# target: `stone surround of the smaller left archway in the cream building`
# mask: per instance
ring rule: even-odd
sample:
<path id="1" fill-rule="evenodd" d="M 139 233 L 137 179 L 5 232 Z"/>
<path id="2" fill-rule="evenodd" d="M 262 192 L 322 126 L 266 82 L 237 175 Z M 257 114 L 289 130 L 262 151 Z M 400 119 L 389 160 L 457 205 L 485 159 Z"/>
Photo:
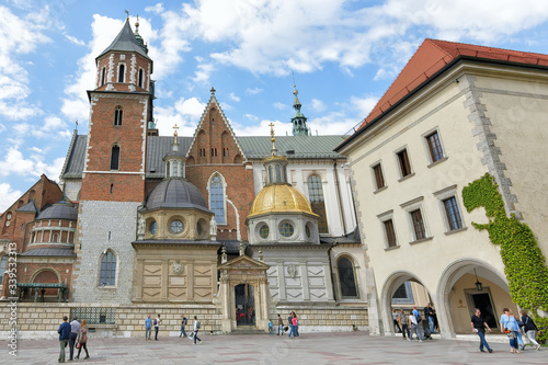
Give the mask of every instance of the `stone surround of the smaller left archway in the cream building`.
<path id="1" fill-rule="evenodd" d="M 419 283 L 426 289 L 429 295 L 431 293 L 427 286 L 423 284 L 424 282 L 418 275 L 411 272 L 397 271 L 388 275 L 385 284 L 383 285 L 383 292 L 380 293 L 380 306 L 379 306 L 380 320 L 383 322 L 383 328 L 386 335 L 395 334 L 393 319 L 391 313 L 392 296 L 398 289 L 398 287 L 400 287 L 400 285 L 406 283 L 407 281 Z M 434 300 L 434 307 L 436 307 L 435 300 Z"/>

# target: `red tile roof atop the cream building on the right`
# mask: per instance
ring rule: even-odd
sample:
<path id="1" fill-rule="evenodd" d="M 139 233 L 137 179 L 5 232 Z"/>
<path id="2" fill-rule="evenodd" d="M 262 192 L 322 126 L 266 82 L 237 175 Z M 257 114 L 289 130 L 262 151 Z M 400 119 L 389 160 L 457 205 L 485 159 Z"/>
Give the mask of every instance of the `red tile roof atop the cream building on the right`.
<path id="1" fill-rule="evenodd" d="M 459 56 L 548 66 L 548 55 L 426 38 L 359 128 L 386 112 Z"/>

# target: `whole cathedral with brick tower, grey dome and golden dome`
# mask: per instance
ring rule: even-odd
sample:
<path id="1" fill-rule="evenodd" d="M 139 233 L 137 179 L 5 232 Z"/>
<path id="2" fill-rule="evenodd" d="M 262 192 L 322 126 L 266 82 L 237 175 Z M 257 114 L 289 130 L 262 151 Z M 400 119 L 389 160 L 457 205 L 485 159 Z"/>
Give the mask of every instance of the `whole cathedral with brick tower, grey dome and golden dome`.
<path id="1" fill-rule="evenodd" d="M 181 313 L 225 333 L 289 311 L 304 331 L 366 328 L 343 137 L 312 135 L 296 87 L 290 136 L 237 136 L 213 88 L 194 135 L 159 136 L 138 23 L 95 61 L 88 133 L 75 130 L 60 183 L 44 176 L 9 208 L 30 223 L 4 229 L 22 303 L 61 301 L 112 335 L 139 335 L 150 312 L 173 332 Z"/>

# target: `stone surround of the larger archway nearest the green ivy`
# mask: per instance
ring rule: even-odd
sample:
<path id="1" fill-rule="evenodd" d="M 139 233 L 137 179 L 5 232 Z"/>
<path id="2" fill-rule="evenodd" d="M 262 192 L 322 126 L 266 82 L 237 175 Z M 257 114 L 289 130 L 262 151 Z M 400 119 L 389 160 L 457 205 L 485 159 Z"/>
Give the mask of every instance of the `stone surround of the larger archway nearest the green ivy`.
<path id="1" fill-rule="evenodd" d="M 473 270 L 476 269 L 476 272 Z M 452 316 L 450 308 L 450 294 L 454 285 L 465 275 L 465 274 L 477 274 L 478 277 L 483 278 L 483 281 L 489 281 L 500 288 L 502 288 L 509 296 L 510 289 L 507 286 L 506 277 L 503 273 L 496 270 L 491 264 L 475 259 L 475 258 L 463 258 L 450 263 L 439 276 L 436 288 L 436 311 L 437 320 L 439 322 L 439 328 L 442 330 L 442 337 L 444 338 L 455 338 L 455 323 L 454 316 Z"/>

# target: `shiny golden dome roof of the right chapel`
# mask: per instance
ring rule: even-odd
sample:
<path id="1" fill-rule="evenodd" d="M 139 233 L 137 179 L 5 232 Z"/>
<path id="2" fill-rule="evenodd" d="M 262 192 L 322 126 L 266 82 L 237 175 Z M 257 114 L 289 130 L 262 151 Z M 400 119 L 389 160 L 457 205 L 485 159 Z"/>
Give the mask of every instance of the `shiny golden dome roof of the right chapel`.
<path id="1" fill-rule="evenodd" d="M 317 216 L 305 195 L 288 184 L 263 187 L 253 201 L 248 218 L 270 213 L 308 213 Z"/>

